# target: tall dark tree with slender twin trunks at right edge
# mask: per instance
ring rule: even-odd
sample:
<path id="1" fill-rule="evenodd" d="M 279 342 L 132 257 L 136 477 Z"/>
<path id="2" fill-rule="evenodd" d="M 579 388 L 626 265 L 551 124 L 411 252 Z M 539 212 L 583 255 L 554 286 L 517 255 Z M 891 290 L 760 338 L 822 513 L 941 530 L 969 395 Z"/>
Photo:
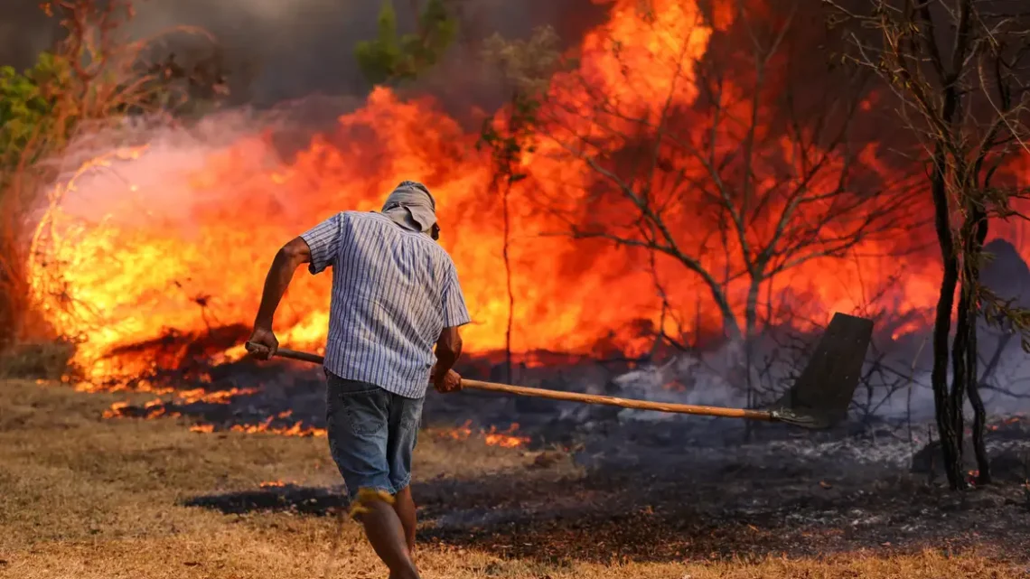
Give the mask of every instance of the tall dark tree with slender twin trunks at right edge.
<path id="1" fill-rule="evenodd" d="M 977 378 L 976 320 L 1025 334 L 1030 312 L 980 283 L 991 219 L 1021 217 L 1025 197 L 1009 164 L 1027 152 L 1027 43 L 1030 13 L 1004 2 L 876 0 L 861 8 L 824 0 L 832 24 L 849 25 L 845 60 L 874 71 L 894 99 L 928 165 L 934 228 L 943 266 L 933 328 L 931 381 L 948 480 L 967 486 L 962 469 L 963 408 L 973 408 L 976 484 L 991 482 L 984 442 L 986 411 Z M 956 309 L 955 293 L 959 300 Z M 949 338 L 952 316 L 955 337 Z M 949 387 L 949 362 L 951 384 Z"/>

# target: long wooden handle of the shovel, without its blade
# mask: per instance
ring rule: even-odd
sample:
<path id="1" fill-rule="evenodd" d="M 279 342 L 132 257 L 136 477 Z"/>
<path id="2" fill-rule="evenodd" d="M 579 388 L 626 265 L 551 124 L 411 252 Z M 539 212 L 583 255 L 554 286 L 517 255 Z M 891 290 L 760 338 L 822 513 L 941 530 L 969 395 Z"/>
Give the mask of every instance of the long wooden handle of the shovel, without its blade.
<path id="1" fill-rule="evenodd" d="M 250 344 L 247 344 L 250 346 Z M 256 346 L 261 347 L 261 346 Z M 247 348 L 251 350 L 250 347 Z M 322 364 L 324 359 L 320 355 L 279 348 L 275 355 Z M 695 406 L 692 404 L 671 404 L 664 402 L 648 402 L 644 400 L 630 400 L 626 398 L 615 398 L 612 396 L 598 396 L 592 394 L 566 393 L 560 390 L 549 390 L 545 388 L 530 388 L 526 386 L 513 386 L 511 384 L 499 384 L 496 382 L 483 382 L 480 380 L 469 380 L 461 378 L 462 388 L 473 388 L 477 390 L 487 390 L 494 393 L 513 394 L 517 396 L 528 396 L 534 398 L 547 398 L 550 400 L 568 400 L 572 402 L 585 402 L 587 404 L 604 404 L 607 406 L 619 406 L 621 408 L 634 408 L 638 410 L 657 410 L 658 412 L 674 412 L 678 414 L 696 414 L 700 416 L 722 416 L 725 418 L 745 418 L 749 420 L 775 420 L 776 417 L 767 410 L 746 410 L 743 408 L 721 408 L 718 406 Z"/>

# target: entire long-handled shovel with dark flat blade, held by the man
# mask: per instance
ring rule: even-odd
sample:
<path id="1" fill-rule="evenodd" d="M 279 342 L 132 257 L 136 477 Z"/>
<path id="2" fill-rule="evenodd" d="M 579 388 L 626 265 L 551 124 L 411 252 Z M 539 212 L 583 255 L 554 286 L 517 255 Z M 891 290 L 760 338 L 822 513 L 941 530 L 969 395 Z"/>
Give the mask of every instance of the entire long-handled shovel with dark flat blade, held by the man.
<path id="1" fill-rule="evenodd" d="M 848 406 L 858 386 L 865 351 L 872 339 L 872 320 L 864 317 L 834 313 L 829 327 L 823 333 L 808 366 L 801 371 L 794 385 L 772 406 L 765 410 L 745 408 L 722 408 L 717 406 L 696 406 L 693 404 L 671 404 L 566 393 L 526 386 L 513 386 L 495 382 L 483 382 L 461 378 L 462 388 L 513 394 L 551 400 L 569 400 L 586 404 L 605 404 L 639 410 L 655 410 L 698 416 L 721 416 L 744 418 L 766 422 L 784 422 L 806 429 L 828 429 L 848 415 Z M 247 343 L 248 350 L 262 348 Z M 302 362 L 322 364 L 320 355 L 279 348 L 275 355 Z"/>

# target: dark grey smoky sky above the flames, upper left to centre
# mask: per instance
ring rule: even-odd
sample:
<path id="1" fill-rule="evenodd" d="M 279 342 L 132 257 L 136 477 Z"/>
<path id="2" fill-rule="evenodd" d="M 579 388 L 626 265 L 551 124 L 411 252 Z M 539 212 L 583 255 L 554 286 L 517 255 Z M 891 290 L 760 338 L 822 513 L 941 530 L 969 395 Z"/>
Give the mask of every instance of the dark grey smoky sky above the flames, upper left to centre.
<path id="1" fill-rule="evenodd" d="M 58 37 L 54 20 L 36 2 L 5 8 L 0 23 L 0 65 L 30 66 Z M 421 3 L 419 3 L 421 4 Z M 311 94 L 364 95 L 370 87 L 354 59 L 355 44 L 377 33 L 380 1 L 370 0 L 149 0 L 137 3 L 128 27 L 131 38 L 149 38 L 176 27 L 210 33 L 235 90 L 235 104 L 269 106 Z M 569 43 L 606 13 L 590 0 L 457 0 L 451 3 L 461 27 L 445 61 L 415 89 L 440 97 L 455 109 L 492 108 L 502 95 L 497 78 L 479 63 L 480 41 L 493 33 L 524 37 L 551 25 Z M 409 2 L 394 2 L 402 32 L 414 29 Z M 176 35 L 159 54 L 186 57 L 210 50 L 196 37 Z"/>

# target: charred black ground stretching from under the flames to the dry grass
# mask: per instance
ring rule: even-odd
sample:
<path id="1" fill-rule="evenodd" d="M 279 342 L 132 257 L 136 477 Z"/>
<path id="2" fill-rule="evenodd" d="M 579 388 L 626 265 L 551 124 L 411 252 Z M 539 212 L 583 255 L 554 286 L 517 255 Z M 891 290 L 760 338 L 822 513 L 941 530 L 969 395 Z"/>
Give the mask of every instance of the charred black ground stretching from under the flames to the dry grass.
<path id="1" fill-rule="evenodd" d="M 166 411 L 215 430 L 323 424 L 322 380 L 310 368 L 282 363 L 258 370 L 240 363 L 212 377 L 205 386 L 212 391 L 255 384 L 258 391 L 229 404 L 166 404 Z M 123 414 L 154 408 L 129 406 Z M 277 418 L 284 409 L 289 416 Z M 525 453 L 521 469 L 467 477 L 455 467 L 455 473 L 416 480 L 420 541 L 551 565 L 925 548 L 986 548 L 1005 558 L 1030 558 L 1030 421 L 999 421 L 989 434 L 997 484 L 952 492 L 935 468 L 936 453 L 920 452 L 926 436 L 909 441 L 907 424 L 849 423 L 818 433 L 755 424 L 749 434 L 743 422 L 728 419 L 656 417 L 472 391 L 431 394 L 425 427 L 471 420 L 474 429 L 506 430 L 517 418 L 516 432 L 529 442 L 511 450 Z M 912 430 L 927 432 L 925 424 Z M 560 476 L 543 468 L 554 462 L 577 468 Z M 341 491 L 285 485 L 199 496 L 185 504 L 227 513 L 323 516 L 345 506 Z"/>

